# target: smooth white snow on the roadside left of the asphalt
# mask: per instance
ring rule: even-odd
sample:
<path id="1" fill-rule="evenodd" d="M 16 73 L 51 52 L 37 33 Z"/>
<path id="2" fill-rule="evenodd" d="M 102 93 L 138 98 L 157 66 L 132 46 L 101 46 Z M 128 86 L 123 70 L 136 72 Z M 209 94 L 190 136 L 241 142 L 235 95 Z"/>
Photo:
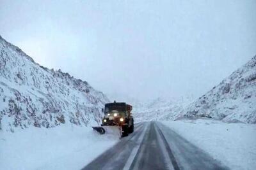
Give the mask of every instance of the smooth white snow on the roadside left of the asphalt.
<path id="1" fill-rule="evenodd" d="M 72 124 L 0 131 L 0 169 L 81 169 L 117 141 Z"/>

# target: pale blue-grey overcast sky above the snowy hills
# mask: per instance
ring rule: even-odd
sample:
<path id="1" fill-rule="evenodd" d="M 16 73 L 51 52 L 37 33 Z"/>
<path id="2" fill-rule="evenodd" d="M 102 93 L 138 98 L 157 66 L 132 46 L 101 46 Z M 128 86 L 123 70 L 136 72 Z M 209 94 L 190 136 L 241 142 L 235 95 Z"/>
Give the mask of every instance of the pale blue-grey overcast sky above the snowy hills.
<path id="1" fill-rule="evenodd" d="M 199 97 L 256 54 L 256 1 L 3 1 L 0 34 L 128 97 Z"/>

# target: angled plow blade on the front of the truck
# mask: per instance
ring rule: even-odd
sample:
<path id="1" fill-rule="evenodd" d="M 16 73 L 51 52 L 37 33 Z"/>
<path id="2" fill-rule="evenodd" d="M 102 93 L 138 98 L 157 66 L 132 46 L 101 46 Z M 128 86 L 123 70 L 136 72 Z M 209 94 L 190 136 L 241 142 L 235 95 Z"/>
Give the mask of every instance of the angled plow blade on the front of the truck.
<path id="1" fill-rule="evenodd" d="M 122 136 L 122 129 L 119 126 L 104 125 L 100 127 L 92 127 L 93 131 L 97 131 L 99 134 L 112 134 L 115 136 Z"/>

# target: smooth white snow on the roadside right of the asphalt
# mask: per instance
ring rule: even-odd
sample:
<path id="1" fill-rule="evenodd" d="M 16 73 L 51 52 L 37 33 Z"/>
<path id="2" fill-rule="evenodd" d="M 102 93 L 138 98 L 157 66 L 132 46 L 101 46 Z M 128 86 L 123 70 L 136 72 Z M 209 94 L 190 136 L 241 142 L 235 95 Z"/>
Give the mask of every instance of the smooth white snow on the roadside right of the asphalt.
<path id="1" fill-rule="evenodd" d="M 230 169 L 256 167 L 256 125 L 200 119 L 162 123 Z"/>

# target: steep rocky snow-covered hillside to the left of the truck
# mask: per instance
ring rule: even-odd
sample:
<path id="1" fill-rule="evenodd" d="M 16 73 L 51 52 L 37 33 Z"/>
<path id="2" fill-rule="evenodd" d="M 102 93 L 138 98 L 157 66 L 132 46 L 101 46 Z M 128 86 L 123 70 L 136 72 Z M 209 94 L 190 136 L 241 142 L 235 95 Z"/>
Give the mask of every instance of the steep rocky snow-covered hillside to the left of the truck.
<path id="1" fill-rule="evenodd" d="M 86 81 L 47 69 L 0 36 L 0 129 L 100 120 L 108 98 Z"/>

